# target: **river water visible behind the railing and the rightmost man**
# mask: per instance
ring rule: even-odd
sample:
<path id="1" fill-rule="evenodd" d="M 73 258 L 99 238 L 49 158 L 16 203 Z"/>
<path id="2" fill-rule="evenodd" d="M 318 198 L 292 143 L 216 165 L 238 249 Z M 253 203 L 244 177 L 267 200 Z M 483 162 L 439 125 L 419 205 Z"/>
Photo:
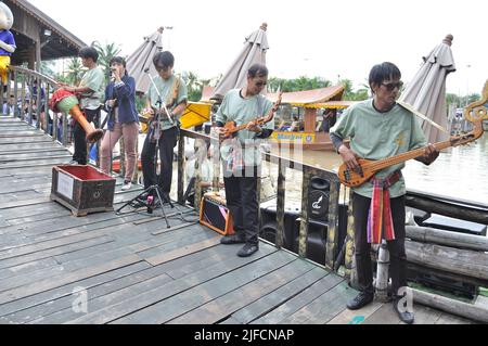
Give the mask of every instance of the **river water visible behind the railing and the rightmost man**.
<path id="1" fill-rule="evenodd" d="M 272 152 L 278 154 L 274 149 Z M 305 151 L 304 153 L 282 153 L 282 155 L 334 171 L 337 171 L 342 164 L 341 156 L 334 152 Z M 274 168 L 271 168 L 268 174 L 277 177 Z M 485 132 L 484 137 L 468 146 L 453 148 L 442 152 L 431 166 L 409 161 L 403 175 L 408 189 L 488 205 L 488 133 Z M 300 172 L 290 170 L 287 174 L 286 194 L 287 204 L 288 202 L 300 203 Z"/>

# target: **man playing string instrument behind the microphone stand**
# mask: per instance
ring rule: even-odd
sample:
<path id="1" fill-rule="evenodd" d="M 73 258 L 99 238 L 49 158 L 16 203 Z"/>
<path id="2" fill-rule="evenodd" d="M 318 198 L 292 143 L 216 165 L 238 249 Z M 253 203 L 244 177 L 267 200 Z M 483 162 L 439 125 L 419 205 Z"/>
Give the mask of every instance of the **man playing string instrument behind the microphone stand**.
<path id="1" fill-rule="evenodd" d="M 141 153 L 144 189 L 159 187 L 165 198 L 169 198 L 172 179 L 172 151 L 178 142 L 179 117 L 187 108 L 187 86 L 175 76 L 175 56 L 170 52 L 158 52 L 153 59 L 158 76 L 147 91 L 144 114 L 151 115 L 150 130 Z M 160 94 L 162 104 L 158 103 Z M 163 107 L 163 104 L 166 107 Z M 166 113 L 166 110 L 168 114 Z M 160 113 L 158 113 L 160 112 Z M 157 124 L 157 120 L 159 121 Z M 156 142 L 159 146 L 160 175 L 156 177 Z"/>

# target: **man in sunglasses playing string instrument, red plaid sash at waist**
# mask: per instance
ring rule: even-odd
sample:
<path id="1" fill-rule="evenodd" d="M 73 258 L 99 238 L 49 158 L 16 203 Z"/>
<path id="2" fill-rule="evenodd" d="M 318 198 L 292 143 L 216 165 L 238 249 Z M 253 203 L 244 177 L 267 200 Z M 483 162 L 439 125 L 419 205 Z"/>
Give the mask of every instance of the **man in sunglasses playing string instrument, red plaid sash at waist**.
<path id="1" fill-rule="evenodd" d="M 331 129 L 331 139 L 347 167 L 360 171 L 358 157 L 378 161 L 408 151 L 427 148 L 424 157 L 432 164 L 439 152 L 427 146 L 415 116 L 399 106 L 396 100 L 402 86 L 401 73 L 391 63 L 372 68 L 370 87 L 373 100 L 349 107 Z M 343 140 L 350 139 L 350 149 Z M 374 298 L 371 244 L 387 241 L 390 253 L 390 277 L 394 308 L 406 323 L 413 323 L 413 312 L 400 308 L 400 295 L 407 286 L 407 255 L 404 248 L 406 184 L 401 176 L 404 164 L 378 171 L 372 180 L 354 189 L 356 268 L 359 295 L 347 307 L 357 310 Z"/>

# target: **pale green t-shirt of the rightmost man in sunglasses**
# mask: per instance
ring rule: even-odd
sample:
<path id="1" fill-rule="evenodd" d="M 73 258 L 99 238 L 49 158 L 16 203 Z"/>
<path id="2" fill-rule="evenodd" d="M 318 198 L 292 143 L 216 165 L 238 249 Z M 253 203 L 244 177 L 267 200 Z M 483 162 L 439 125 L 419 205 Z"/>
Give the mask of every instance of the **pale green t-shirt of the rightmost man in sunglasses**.
<path id="1" fill-rule="evenodd" d="M 383 159 L 427 145 L 425 136 L 415 116 L 395 105 L 387 113 L 380 113 L 373 106 L 373 100 L 358 103 L 344 112 L 337 124 L 331 129 L 342 139 L 350 139 L 350 149 L 365 159 Z M 385 168 L 376 178 L 387 178 L 401 170 L 404 163 Z M 354 191 L 364 197 L 372 197 L 373 184 L 369 181 Z M 390 197 L 407 193 L 404 179 L 401 178 L 389 189 Z"/>

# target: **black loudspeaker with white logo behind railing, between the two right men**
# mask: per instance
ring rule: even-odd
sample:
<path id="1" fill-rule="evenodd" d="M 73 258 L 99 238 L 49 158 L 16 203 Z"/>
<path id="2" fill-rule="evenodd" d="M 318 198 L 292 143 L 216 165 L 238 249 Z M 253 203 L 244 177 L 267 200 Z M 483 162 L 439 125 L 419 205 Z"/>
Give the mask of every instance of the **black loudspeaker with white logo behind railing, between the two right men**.
<path id="1" fill-rule="evenodd" d="M 312 177 L 310 181 L 310 196 L 308 215 L 310 219 L 326 222 L 329 218 L 329 200 L 331 183 L 322 178 Z"/>

